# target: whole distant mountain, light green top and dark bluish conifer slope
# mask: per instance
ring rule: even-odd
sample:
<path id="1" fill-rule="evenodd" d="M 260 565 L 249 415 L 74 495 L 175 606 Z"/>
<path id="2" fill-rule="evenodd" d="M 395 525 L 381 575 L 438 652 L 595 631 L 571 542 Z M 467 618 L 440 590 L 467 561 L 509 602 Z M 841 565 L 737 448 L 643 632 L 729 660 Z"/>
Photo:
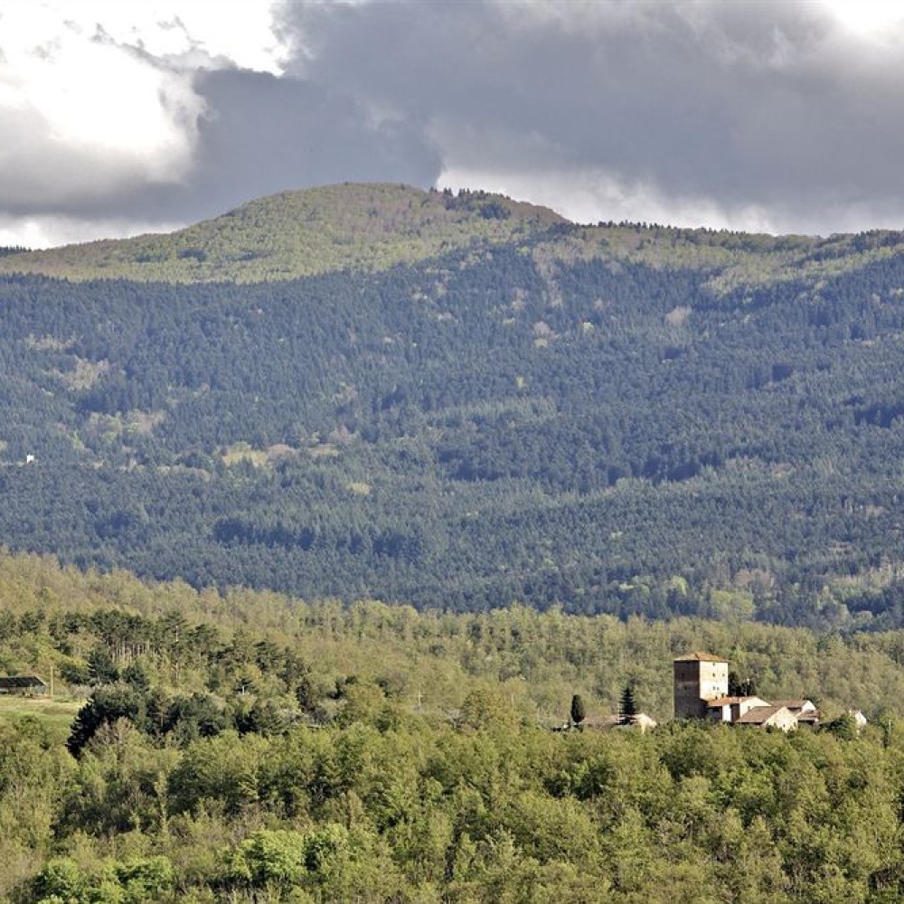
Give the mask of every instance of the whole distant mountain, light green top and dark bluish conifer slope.
<path id="1" fill-rule="evenodd" d="M 11 250 L 0 542 L 307 598 L 899 626 L 902 250 L 352 185 Z"/>

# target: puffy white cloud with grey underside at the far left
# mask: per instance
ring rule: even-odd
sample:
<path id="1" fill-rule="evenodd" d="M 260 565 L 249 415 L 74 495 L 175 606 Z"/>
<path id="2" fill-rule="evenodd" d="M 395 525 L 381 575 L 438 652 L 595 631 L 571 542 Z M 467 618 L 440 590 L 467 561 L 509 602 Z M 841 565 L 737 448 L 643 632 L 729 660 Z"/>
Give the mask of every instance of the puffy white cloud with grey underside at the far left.
<path id="1" fill-rule="evenodd" d="M 10 213 L 103 204 L 181 178 L 202 102 L 180 73 L 24 5 L 0 18 L 0 194 Z"/>

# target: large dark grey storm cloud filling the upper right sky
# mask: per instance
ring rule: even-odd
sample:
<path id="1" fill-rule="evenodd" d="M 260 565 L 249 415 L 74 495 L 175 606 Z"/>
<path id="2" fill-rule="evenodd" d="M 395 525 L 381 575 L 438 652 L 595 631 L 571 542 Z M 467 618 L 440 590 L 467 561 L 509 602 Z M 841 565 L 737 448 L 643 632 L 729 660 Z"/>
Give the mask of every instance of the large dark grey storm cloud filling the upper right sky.
<path id="1" fill-rule="evenodd" d="M 598 168 L 814 221 L 904 210 L 904 55 L 815 5 L 287 5 L 294 71 L 422 124 L 444 162 Z M 826 223 L 825 225 L 830 225 Z"/>

